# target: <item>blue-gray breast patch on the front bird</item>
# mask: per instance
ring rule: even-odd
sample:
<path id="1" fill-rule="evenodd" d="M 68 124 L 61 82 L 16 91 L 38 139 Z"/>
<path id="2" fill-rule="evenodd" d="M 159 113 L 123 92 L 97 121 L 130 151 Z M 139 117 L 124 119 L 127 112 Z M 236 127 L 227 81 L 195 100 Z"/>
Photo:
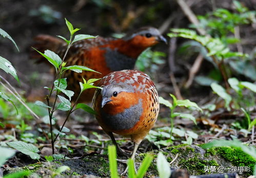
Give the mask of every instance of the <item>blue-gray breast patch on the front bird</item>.
<path id="1" fill-rule="evenodd" d="M 109 115 L 101 110 L 101 115 L 105 124 L 112 130 L 124 130 L 132 128 L 137 122 L 139 122 L 142 115 L 142 100 L 139 103 L 125 109 L 123 113 L 116 115 Z"/>

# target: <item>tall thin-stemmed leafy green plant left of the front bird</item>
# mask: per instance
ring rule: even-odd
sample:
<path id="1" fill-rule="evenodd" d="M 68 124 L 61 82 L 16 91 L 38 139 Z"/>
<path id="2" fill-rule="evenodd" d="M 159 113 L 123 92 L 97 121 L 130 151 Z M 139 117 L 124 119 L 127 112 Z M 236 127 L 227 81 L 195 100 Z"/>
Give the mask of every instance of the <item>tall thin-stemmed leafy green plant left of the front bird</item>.
<path id="1" fill-rule="evenodd" d="M 36 105 L 40 105 L 42 107 L 45 107 L 48 109 L 48 116 L 49 116 L 49 122 L 50 122 L 50 133 L 51 133 L 51 145 L 52 145 L 52 153 L 54 154 L 54 142 L 56 141 L 56 139 L 58 138 L 58 136 L 65 136 L 66 133 L 65 132 L 69 132 L 69 129 L 64 127 L 65 123 L 67 122 L 70 114 L 78 109 L 78 108 L 82 108 L 84 109 L 86 112 L 88 113 L 94 113 L 93 109 L 90 108 L 89 106 L 87 106 L 86 104 L 77 104 L 78 99 L 80 98 L 82 92 L 84 92 L 85 90 L 87 90 L 88 88 L 100 88 L 97 86 L 93 86 L 93 82 L 95 82 L 96 80 L 99 79 L 89 79 L 88 81 L 86 81 L 84 79 L 84 82 L 80 82 L 80 86 L 81 86 L 81 92 L 78 95 L 78 97 L 74 100 L 74 103 L 71 105 L 71 97 L 74 95 L 73 91 L 70 90 L 66 90 L 67 88 L 67 81 L 66 78 L 62 78 L 65 74 L 66 71 L 71 70 L 73 72 L 76 73 L 82 73 L 82 71 L 90 71 L 90 72 L 96 72 L 94 70 L 91 70 L 89 68 L 87 68 L 86 66 L 81 66 L 81 65 L 71 65 L 71 66 L 66 66 L 66 62 L 65 62 L 65 57 L 71 47 L 71 44 L 73 44 L 74 42 L 78 41 L 78 40 L 82 40 L 82 39 L 88 39 L 88 38 L 94 38 L 94 36 L 91 35 L 83 35 L 83 34 L 78 34 L 78 35 L 74 35 L 75 32 L 77 32 L 80 29 L 74 29 L 72 24 L 67 20 L 66 20 L 66 25 L 69 29 L 70 32 L 70 38 L 69 40 L 62 37 L 62 36 L 58 36 L 60 38 L 62 38 L 63 40 L 66 41 L 67 43 L 67 50 L 65 52 L 64 57 L 61 59 L 60 56 L 58 56 L 57 54 L 55 54 L 54 52 L 50 51 L 50 50 L 46 50 L 44 53 L 41 53 L 40 51 L 36 51 L 38 53 L 40 53 L 42 56 L 44 56 L 55 68 L 56 71 L 56 75 L 55 75 L 55 81 L 52 84 L 51 87 L 45 87 L 49 90 L 49 95 L 46 96 L 46 100 L 47 100 L 47 104 L 45 104 L 42 101 L 36 101 L 35 104 Z M 50 104 L 50 98 L 53 96 L 53 94 L 55 93 L 54 96 L 54 103 L 51 105 Z M 68 99 L 66 99 L 63 96 L 60 96 L 60 94 L 64 94 L 68 97 Z M 60 102 L 57 102 L 57 99 Z M 77 105 L 76 105 L 77 104 Z M 76 107 L 75 107 L 76 106 Z M 59 109 L 59 110 L 65 110 L 68 111 L 67 117 L 63 123 L 63 125 L 61 126 L 60 130 L 53 130 L 53 121 L 56 120 L 53 117 L 54 112 Z M 55 135 L 55 136 L 54 136 Z"/>

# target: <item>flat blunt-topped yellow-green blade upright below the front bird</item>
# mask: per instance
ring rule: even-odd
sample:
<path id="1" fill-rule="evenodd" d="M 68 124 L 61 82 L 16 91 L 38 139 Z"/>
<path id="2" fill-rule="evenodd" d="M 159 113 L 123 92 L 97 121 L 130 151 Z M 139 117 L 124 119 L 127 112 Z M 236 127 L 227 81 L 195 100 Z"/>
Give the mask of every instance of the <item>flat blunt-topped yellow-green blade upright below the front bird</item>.
<path id="1" fill-rule="evenodd" d="M 116 162 L 116 148 L 114 145 L 108 146 L 108 160 L 111 178 L 118 178 L 117 162 Z"/>

